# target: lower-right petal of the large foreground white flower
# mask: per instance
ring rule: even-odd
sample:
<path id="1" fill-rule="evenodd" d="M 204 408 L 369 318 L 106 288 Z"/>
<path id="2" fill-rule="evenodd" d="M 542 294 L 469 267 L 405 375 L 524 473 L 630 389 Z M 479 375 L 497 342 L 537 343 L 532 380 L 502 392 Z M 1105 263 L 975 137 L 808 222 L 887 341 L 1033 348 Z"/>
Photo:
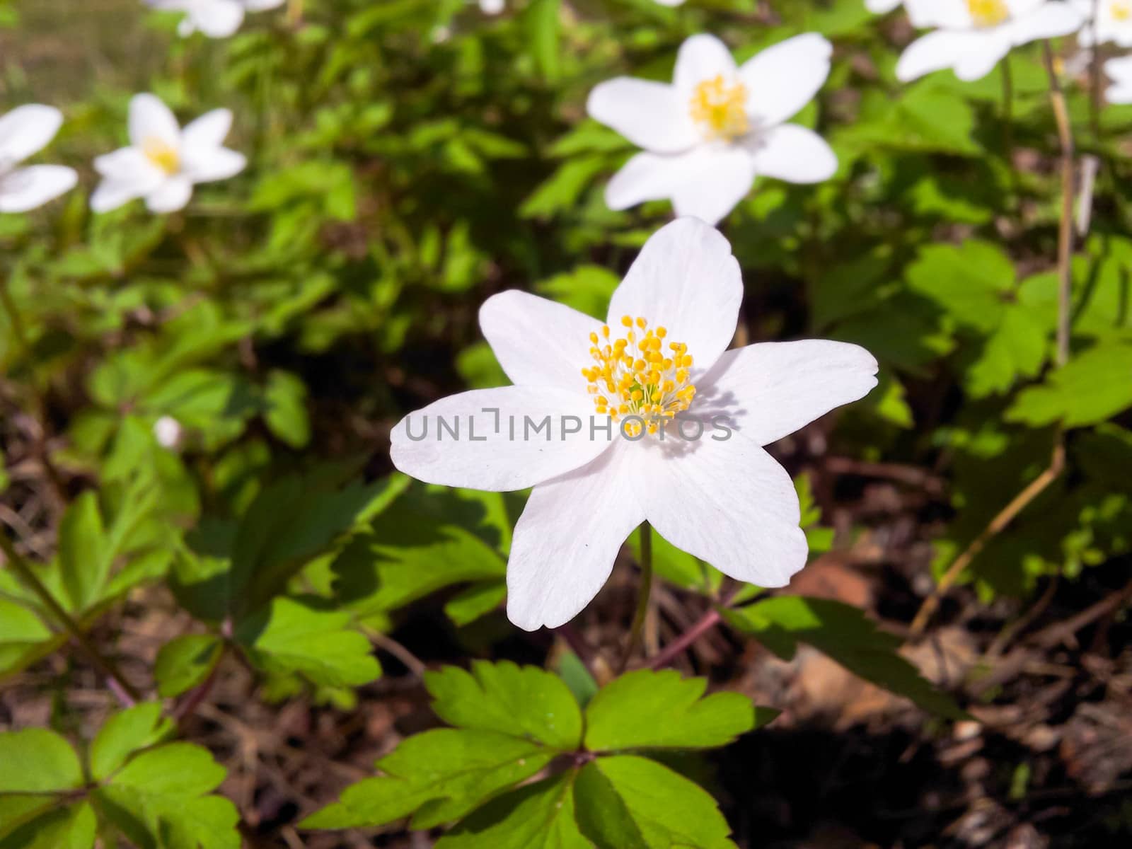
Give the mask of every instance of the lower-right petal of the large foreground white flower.
<path id="1" fill-rule="evenodd" d="M 784 586 L 806 565 L 794 482 L 756 443 L 735 431 L 638 447 L 645 517 L 674 546 L 758 586 Z"/>

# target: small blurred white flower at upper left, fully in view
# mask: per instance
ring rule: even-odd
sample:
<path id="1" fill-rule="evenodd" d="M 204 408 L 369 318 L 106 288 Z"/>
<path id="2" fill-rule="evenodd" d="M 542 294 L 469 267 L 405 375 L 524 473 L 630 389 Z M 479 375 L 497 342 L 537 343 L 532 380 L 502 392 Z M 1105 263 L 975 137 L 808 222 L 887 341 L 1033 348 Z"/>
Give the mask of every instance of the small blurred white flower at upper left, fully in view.
<path id="1" fill-rule="evenodd" d="M 158 97 L 134 95 L 130 146 L 94 161 L 102 182 L 91 197 L 91 208 L 108 212 L 139 197 L 155 213 L 183 208 L 194 183 L 226 180 L 247 164 L 243 154 L 223 146 L 231 127 L 232 113 L 216 109 L 182 130 Z"/>

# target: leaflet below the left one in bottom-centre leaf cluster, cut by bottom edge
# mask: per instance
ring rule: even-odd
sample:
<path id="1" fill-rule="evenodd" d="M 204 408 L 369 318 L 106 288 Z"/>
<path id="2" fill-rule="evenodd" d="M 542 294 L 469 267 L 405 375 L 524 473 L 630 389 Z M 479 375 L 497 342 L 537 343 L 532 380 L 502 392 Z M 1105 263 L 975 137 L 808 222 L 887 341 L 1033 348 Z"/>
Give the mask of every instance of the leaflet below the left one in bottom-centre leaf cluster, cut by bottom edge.
<path id="1" fill-rule="evenodd" d="M 574 774 L 564 772 L 492 799 L 436 849 L 593 849 L 574 821 Z"/>

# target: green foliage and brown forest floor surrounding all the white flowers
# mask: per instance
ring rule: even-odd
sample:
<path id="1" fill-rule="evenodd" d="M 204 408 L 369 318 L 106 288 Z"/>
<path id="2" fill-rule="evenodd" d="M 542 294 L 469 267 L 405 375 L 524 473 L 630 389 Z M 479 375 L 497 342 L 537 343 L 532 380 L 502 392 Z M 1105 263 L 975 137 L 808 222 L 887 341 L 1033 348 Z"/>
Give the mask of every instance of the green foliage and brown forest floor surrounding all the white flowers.
<path id="1" fill-rule="evenodd" d="M 859 0 L 512 6 L 292 0 L 223 42 L 179 40 L 175 16 L 132 0 L 0 6 L 5 108 L 62 109 L 50 161 L 83 173 L 65 199 L 0 218 L 0 521 L 15 544 L 0 571 L 0 847 L 1126 840 L 1132 109 L 1099 108 L 1060 45 L 1077 142 L 1100 170 L 1072 260 L 1071 359 L 1054 368 L 1061 201 L 1039 45 L 1011 55 L 1007 96 L 1002 68 L 898 85 L 912 33 Z M 524 496 L 391 474 L 388 429 L 506 381 L 477 326 L 486 297 L 522 288 L 603 314 L 669 217 L 606 207 L 631 148 L 585 118 L 593 85 L 666 78 L 696 32 L 741 60 L 807 31 L 837 52 L 799 120 L 841 165 L 817 187 L 760 181 L 726 220 L 740 335 L 856 342 L 882 384 L 775 447 L 798 473 L 816 577 L 734 588 L 657 540 L 646 650 L 701 612 L 721 610 L 726 629 L 677 659 L 710 683 L 618 677 L 634 547 L 571 648 L 521 635 L 499 606 Z M 231 108 L 248 171 L 183 214 L 93 216 L 89 162 L 122 143 L 138 91 L 186 119 Z M 175 446 L 157 441 L 163 417 L 182 428 Z M 1062 438 L 1064 472 L 901 654 L 933 575 Z M 926 712 L 861 713 L 835 688 L 799 701 L 807 681 L 832 686 L 806 646 Z M 704 755 L 773 719 L 755 695 L 786 715 Z M 256 743 L 265 721 L 283 743 Z M 774 734 L 791 745 L 749 741 Z M 968 740 L 981 746 L 957 754 Z M 277 746 L 299 761 L 256 754 Z M 872 804 L 854 804 L 838 782 L 861 746 L 866 772 L 910 762 L 919 780 L 868 772 Z M 331 766 L 310 783 L 301 757 L 318 748 Z M 783 755 L 797 764 L 774 766 Z M 767 783 L 777 811 L 754 798 Z"/>

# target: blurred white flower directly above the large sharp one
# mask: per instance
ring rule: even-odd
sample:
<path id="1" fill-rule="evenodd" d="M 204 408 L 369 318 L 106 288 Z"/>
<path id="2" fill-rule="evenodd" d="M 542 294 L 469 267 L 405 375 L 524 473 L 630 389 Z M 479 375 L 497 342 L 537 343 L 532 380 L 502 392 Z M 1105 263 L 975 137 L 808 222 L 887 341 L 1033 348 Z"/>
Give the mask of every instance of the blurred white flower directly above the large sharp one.
<path id="1" fill-rule="evenodd" d="M 590 93 L 586 109 L 644 148 L 606 189 L 612 209 L 671 199 L 677 215 L 714 224 L 756 175 L 826 180 L 838 169 L 817 134 L 784 123 L 821 88 L 832 46 L 816 33 L 764 50 L 737 68 L 723 43 L 694 35 L 680 46 L 672 84 L 618 77 Z"/>

